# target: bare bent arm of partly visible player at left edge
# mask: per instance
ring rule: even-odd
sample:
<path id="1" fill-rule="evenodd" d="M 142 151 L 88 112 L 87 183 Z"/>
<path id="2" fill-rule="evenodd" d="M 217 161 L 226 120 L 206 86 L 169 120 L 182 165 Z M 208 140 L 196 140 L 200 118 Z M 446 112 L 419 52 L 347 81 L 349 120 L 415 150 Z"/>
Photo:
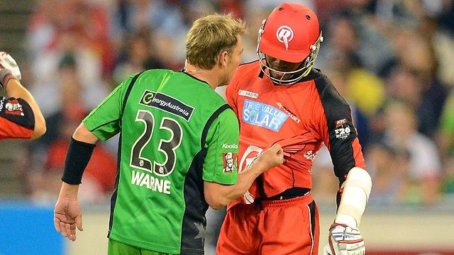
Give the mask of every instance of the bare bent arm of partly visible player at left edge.
<path id="1" fill-rule="evenodd" d="M 31 139 L 35 139 L 44 135 L 46 127 L 45 127 L 45 119 L 43 113 L 36 103 L 35 98 L 33 98 L 32 94 L 22 86 L 22 84 L 17 79 L 9 79 L 7 86 L 6 86 L 6 94 L 9 97 L 14 98 L 22 98 L 23 100 L 27 101 L 30 105 L 31 109 L 33 110 L 33 115 L 35 116 L 35 129 Z"/>

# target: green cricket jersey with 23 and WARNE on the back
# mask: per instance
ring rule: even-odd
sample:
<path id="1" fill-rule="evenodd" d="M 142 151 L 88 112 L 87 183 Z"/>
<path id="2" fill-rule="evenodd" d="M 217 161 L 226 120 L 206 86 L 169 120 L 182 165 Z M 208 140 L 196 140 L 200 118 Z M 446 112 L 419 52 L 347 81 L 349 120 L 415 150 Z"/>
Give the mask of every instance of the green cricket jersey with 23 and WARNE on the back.
<path id="1" fill-rule="evenodd" d="M 204 181 L 238 179 L 238 120 L 209 84 L 153 69 L 128 77 L 84 119 L 100 140 L 121 133 L 109 238 L 204 254 Z"/>

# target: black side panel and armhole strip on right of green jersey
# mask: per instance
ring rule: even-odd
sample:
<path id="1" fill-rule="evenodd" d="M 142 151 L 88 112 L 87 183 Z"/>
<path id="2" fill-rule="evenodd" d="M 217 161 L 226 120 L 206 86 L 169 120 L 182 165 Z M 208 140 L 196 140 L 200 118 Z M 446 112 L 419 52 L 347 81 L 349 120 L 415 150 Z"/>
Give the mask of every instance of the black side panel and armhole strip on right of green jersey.
<path id="1" fill-rule="evenodd" d="M 201 151 L 194 157 L 184 179 L 184 203 L 186 210 L 182 222 L 181 254 L 204 254 L 206 217 L 209 205 L 204 196 L 204 180 L 202 179 L 206 136 L 211 124 L 219 114 L 230 108 L 228 104 L 221 106 L 207 120 L 201 134 Z"/>

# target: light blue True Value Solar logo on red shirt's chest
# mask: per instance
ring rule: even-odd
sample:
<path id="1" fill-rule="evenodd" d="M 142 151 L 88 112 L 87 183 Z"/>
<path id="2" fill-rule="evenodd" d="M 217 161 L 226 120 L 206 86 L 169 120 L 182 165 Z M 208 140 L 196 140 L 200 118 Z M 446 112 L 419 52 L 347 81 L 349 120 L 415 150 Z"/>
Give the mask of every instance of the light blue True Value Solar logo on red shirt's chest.
<path id="1" fill-rule="evenodd" d="M 285 120 L 289 118 L 289 115 L 265 103 L 246 99 L 243 103 L 242 118 L 245 123 L 277 132 L 285 123 Z"/>

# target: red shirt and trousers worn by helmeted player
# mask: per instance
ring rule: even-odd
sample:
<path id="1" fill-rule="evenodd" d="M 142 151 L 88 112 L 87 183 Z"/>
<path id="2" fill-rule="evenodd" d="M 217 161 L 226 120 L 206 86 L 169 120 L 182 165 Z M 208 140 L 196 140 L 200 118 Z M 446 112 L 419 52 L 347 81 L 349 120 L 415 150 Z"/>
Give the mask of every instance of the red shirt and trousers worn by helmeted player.
<path id="1" fill-rule="evenodd" d="M 275 142 L 287 161 L 228 206 L 216 254 L 317 254 L 319 214 L 307 192 L 316 153 L 328 147 L 341 183 L 354 166 L 365 169 L 350 107 L 317 69 L 277 85 L 257 61 L 238 67 L 226 98 L 240 121 L 238 171 Z M 305 193 L 285 196 L 289 191 Z"/>

